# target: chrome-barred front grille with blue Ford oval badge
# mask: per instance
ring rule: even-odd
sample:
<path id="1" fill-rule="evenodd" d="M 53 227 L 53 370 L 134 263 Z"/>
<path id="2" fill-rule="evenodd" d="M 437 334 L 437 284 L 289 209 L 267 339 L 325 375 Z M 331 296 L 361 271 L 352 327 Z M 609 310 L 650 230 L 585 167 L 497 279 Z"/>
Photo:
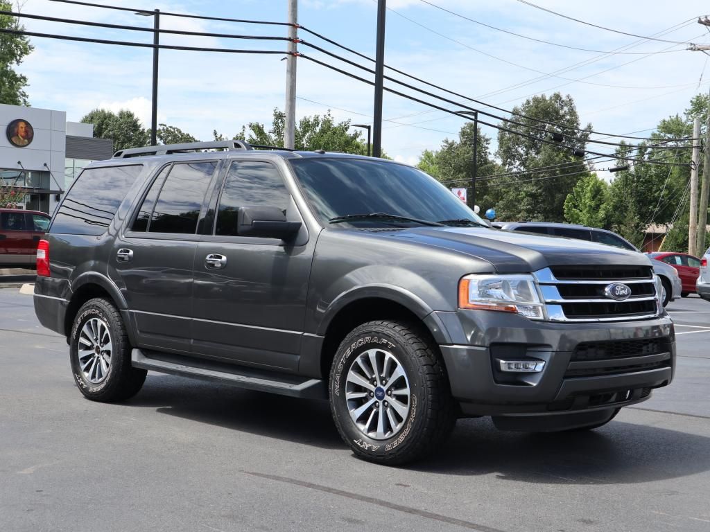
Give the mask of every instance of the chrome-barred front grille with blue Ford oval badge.
<path id="1" fill-rule="evenodd" d="M 650 266 L 553 266 L 535 272 L 550 321 L 623 321 L 659 314 L 656 283 Z M 606 294 L 626 284 L 627 299 Z"/>

